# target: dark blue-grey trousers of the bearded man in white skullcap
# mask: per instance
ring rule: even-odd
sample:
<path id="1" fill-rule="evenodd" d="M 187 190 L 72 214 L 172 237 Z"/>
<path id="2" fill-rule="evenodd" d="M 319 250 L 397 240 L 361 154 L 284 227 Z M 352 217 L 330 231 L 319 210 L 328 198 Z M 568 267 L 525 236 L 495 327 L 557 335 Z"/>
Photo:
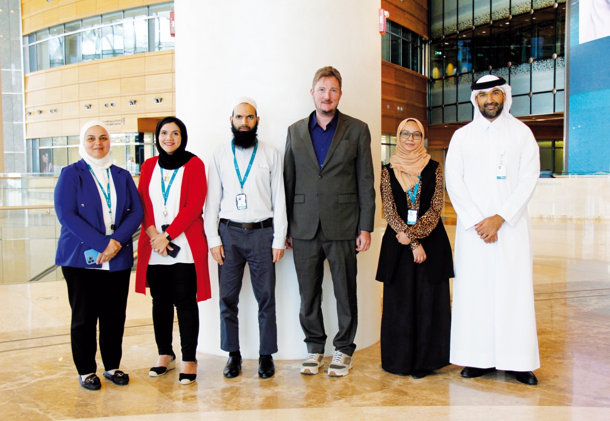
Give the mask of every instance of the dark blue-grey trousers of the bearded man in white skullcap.
<path id="1" fill-rule="evenodd" d="M 275 318 L 275 266 L 273 263 L 273 228 L 245 230 L 220 224 L 224 264 L 218 265 L 220 291 L 220 347 L 239 351 L 239 292 L 243 271 L 248 263 L 254 297 L 259 304 L 259 353 L 278 352 L 278 327 Z"/>

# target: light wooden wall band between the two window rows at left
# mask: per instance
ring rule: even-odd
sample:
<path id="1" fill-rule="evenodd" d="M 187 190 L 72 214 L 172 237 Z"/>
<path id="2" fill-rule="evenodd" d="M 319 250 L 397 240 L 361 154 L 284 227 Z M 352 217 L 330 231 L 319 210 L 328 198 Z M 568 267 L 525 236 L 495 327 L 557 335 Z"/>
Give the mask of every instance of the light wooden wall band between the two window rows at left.
<path id="1" fill-rule="evenodd" d="M 25 102 L 31 115 L 26 114 L 26 138 L 77 135 L 82 122 L 91 119 L 109 122 L 113 133 L 135 132 L 138 118 L 175 115 L 173 69 L 174 51 L 169 50 L 27 74 Z M 155 97 L 163 101 L 155 104 Z M 130 99 L 136 105 L 129 105 Z"/>

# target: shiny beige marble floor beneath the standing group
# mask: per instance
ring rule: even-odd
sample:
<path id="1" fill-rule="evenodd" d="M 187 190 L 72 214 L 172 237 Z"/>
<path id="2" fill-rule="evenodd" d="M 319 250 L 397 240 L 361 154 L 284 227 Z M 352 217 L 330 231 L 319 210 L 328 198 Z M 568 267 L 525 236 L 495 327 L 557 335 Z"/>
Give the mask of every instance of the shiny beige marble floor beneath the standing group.
<path id="1" fill-rule="evenodd" d="M 453 241 L 454 220 L 445 216 Z M 608 420 L 610 220 L 534 219 L 532 227 L 537 386 L 504 372 L 465 379 L 456 366 L 422 380 L 399 377 L 381 369 L 379 344 L 357 351 L 345 378 L 303 376 L 300 361 L 276 361 L 276 375 L 259 380 L 257 362 L 246 360 L 243 375 L 229 380 L 225 358 L 199 353 L 198 380 L 181 386 L 178 370 L 148 376 L 151 303 L 132 293 L 121 363 L 131 383 L 102 378 L 101 391 L 87 391 L 71 358 L 65 284 L 48 281 L 0 285 L 0 419 Z"/>

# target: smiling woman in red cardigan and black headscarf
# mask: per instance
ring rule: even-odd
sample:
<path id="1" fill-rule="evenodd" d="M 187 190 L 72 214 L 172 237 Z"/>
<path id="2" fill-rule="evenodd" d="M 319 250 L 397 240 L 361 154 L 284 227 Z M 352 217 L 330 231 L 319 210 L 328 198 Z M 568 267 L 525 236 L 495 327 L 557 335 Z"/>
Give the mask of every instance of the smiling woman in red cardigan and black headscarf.
<path id="1" fill-rule="evenodd" d="M 135 292 L 152 296 L 152 324 L 159 358 L 148 373 L 165 374 L 175 367 L 171 347 L 174 306 L 182 347 L 181 384 L 197 377 L 197 302 L 210 298 L 207 240 L 203 230 L 206 169 L 203 161 L 185 150 L 187 128 L 175 117 L 159 121 L 156 129 L 158 157 L 142 165 L 138 191 L 144 220 L 138 241 Z"/>

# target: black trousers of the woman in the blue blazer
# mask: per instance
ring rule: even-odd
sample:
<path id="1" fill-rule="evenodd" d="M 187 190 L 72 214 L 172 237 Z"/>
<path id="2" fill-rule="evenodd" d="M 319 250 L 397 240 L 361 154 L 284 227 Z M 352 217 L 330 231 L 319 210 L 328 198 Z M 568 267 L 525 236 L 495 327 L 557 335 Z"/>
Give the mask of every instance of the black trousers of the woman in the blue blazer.
<path id="1" fill-rule="evenodd" d="M 118 369 L 123 355 L 125 309 L 131 269 L 109 272 L 62 266 L 72 308 L 72 357 L 79 374 L 95 373 L 96 325 L 104 370 Z"/>

